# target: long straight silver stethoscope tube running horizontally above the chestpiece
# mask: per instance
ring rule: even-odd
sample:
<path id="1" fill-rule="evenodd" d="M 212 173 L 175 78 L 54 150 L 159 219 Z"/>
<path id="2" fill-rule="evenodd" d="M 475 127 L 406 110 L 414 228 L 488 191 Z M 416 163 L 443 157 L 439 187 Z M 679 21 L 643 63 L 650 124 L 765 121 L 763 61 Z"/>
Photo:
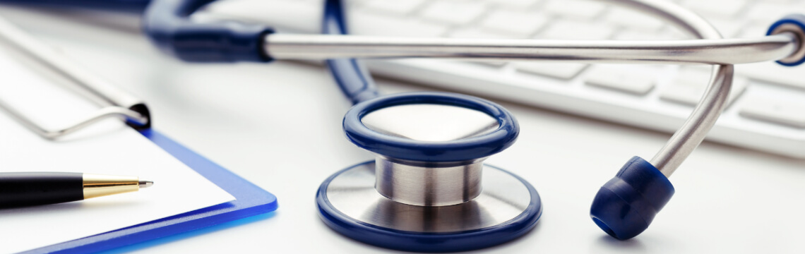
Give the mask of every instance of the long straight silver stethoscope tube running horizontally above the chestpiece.
<path id="1" fill-rule="evenodd" d="M 446 58 L 550 60 L 574 63 L 756 63 L 795 52 L 791 34 L 757 39 L 666 41 L 452 39 L 357 35 L 283 35 L 264 39 L 274 59 Z"/>

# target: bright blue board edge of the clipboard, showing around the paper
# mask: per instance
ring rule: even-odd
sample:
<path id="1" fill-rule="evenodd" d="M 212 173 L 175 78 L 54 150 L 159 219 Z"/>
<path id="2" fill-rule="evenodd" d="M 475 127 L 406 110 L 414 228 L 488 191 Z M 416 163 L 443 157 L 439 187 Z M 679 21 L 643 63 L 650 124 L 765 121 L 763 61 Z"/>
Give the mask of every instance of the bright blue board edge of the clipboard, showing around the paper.
<path id="1" fill-rule="evenodd" d="M 162 133 L 153 129 L 143 129 L 140 133 L 229 192 L 236 200 L 23 253 L 101 252 L 277 210 L 277 198 L 268 191 L 210 162 Z"/>

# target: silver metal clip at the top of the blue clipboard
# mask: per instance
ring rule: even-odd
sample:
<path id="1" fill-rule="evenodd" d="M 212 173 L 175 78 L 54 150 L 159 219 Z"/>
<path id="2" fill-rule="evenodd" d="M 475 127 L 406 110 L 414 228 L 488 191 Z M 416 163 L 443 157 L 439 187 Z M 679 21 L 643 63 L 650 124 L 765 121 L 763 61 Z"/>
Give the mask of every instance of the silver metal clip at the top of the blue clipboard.
<path id="1" fill-rule="evenodd" d="M 87 72 L 72 59 L 39 42 L 18 27 L 14 27 L 4 18 L 0 18 L 0 44 L 8 47 L 16 55 L 21 55 L 24 59 L 42 67 L 44 71 L 67 81 L 66 83 L 70 84 L 79 95 L 101 106 L 101 109 L 95 113 L 72 125 L 61 129 L 46 129 L 0 100 L 0 109 L 6 110 L 14 120 L 19 121 L 39 136 L 55 140 L 110 117 L 120 117 L 126 121 L 126 125 L 134 129 L 151 127 L 151 113 L 142 100 L 121 89 L 114 88 L 105 80 Z"/>

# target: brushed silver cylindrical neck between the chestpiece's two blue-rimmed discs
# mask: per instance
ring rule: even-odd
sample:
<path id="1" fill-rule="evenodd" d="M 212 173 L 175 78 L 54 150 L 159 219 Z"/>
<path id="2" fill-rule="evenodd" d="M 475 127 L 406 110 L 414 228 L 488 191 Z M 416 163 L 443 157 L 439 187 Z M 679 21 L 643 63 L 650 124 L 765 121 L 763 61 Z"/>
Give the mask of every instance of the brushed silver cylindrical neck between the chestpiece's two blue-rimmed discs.
<path id="1" fill-rule="evenodd" d="M 409 205 L 439 207 L 464 203 L 481 195 L 482 162 L 481 159 L 459 166 L 438 162 L 411 166 L 378 157 L 374 160 L 375 188 L 380 195 Z"/>

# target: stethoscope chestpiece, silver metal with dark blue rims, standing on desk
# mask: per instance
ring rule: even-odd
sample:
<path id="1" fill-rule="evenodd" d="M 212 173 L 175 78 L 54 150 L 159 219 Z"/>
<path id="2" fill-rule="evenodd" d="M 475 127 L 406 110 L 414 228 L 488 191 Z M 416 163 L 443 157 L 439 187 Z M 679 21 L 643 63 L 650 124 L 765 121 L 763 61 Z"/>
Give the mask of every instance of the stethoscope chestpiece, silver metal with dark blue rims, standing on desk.
<path id="1" fill-rule="evenodd" d="M 511 113 L 488 100 L 381 96 L 350 109 L 344 129 L 377 156 L 319 188 L 321 218 L 342 235 L 404 251 L 458 252 L 514 240 L 542 215 L 533 186 L 483 164 L 519 131 Z"/>

